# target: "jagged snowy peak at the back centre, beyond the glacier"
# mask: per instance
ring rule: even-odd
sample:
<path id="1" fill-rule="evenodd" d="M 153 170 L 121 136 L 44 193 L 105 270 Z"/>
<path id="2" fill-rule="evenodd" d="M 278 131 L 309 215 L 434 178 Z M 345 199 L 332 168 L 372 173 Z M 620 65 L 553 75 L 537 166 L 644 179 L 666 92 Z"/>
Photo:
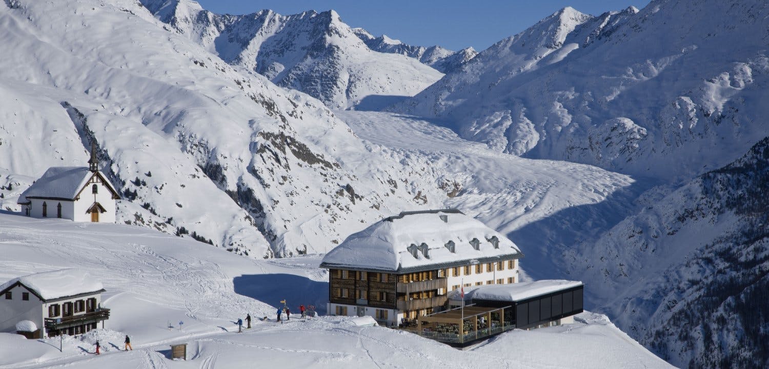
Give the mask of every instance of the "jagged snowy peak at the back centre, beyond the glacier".
<path id="1" fill-rule="evenodd" d="M 161 22 L 242 71 L 303 91 L 331 108 L 412 96 L 441 73 L 371 51 L 333 10 L 218 15 L 191 0 L 141 0 Z"/>

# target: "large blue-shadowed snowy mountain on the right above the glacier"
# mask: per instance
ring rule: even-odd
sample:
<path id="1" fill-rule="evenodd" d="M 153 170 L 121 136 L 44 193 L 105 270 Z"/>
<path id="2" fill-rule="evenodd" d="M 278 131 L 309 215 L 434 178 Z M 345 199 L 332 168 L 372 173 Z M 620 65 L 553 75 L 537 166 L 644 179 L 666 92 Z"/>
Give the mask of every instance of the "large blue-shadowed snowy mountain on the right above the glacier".
<path id="1" fill-rule="evenodd" d="M 515 155 L 687 180 L 769 135 L 754 103 L 769 91 L 767 15 L 757 0 L 564 8 L 394 111 Z"/>

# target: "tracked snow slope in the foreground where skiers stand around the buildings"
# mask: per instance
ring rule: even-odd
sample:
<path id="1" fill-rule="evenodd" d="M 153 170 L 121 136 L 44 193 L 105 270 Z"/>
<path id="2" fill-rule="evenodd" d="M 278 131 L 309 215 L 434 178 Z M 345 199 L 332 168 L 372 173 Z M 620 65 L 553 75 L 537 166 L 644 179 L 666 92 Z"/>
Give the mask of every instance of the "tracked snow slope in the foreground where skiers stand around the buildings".
<path id="1" fill-rule="evenodd" d="M 272 317 L 283 298 L 291 307 L 325 298 L 328 276 L 317 268 L 319 258 L 251 260 L 146 228 L 13 214 L 0 214 L 0 244 L 0 281 L 79 265 L 102 281 L 103 304 L 112 309 L 106 329 L 66 337 L 62 353 L 58 338 L 0 334 L 2 367 L 670 367 L 591 313 L 562 327 L 511 331 L 469 351 L 341 317 L 255 320 L 238 334 L 234 322 L 247 312 Z M 134 350 L 117 352 L 125 334 Z M 92 354 L 97 340 L 100 356 Z M 168 344 L 182 342 L 188 361 L 169 360 Z"/>

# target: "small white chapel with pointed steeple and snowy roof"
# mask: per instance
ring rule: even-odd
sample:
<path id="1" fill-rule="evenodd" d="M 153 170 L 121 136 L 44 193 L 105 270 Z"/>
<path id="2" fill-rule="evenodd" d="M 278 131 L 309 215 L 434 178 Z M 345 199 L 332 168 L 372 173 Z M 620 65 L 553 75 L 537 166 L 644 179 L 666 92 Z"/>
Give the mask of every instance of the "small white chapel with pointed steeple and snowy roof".
<path id="1" fill-rule="evenodd" d="M 88 167 L 51 167 L 18 197 L 22 211 L 35 218 L 115 223 L 118 191 L 98 170 L 96 148 Z"/>

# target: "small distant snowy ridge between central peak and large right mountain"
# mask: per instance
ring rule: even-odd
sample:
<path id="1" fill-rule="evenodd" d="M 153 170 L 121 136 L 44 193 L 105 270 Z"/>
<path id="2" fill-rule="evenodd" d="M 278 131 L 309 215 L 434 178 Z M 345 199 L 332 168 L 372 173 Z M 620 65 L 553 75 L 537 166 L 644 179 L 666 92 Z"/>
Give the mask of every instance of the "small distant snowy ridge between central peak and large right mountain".
<path id="1" fill-rule="evenodd" d="M 430 65 L 442 73 L 454 71 L 478 55 L 474 48 L 463 48 L 458 52 L 452 52 L 438 45 L 430 47 L 406 45 L 400 40 L 387 37 L 387 35 L 375 37 L 363 28 L 352 28 L 352 32 L 355 32 L 355 35 L 375 52 L 388 52 L 417 58 L 419 62 Z"/>

